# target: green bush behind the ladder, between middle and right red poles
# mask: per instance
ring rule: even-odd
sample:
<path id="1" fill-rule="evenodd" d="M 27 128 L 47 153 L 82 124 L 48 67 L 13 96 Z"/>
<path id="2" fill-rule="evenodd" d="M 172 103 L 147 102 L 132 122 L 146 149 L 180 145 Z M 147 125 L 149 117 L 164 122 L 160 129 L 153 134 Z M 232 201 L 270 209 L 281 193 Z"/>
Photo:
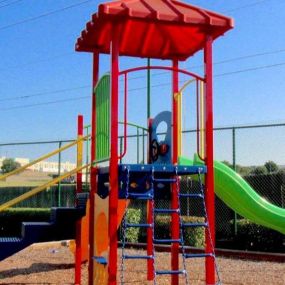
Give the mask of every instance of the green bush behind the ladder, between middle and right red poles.
<path id="1" fill-rule="evenodd" d="M 202 223 L 204 218 L 195 216 L 182 216 L 185 223 Z M 169 239 L 171 231 L 171 217 L 157 216 L 155 219 L 156 227 L 155 234 L 158 238 Z M 204 227 L 186 228 L 184 230 L 185 245 L 194 247 L 204 247 L 205 244 L 205 229 Z"/>

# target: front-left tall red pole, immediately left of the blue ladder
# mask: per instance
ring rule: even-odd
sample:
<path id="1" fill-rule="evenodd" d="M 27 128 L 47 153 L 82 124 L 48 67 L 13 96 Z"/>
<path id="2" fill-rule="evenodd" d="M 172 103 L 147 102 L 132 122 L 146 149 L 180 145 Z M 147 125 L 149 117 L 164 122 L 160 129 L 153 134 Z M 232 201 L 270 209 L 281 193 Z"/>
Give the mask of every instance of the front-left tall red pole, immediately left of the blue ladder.
<path id="1" fill-rule="evenodd" d="M 111 158 L 109 195 L 109 285 L 117 284 L 118 221 L 118 76 L 119 47 L 116 33 L 111 43 Z"/>

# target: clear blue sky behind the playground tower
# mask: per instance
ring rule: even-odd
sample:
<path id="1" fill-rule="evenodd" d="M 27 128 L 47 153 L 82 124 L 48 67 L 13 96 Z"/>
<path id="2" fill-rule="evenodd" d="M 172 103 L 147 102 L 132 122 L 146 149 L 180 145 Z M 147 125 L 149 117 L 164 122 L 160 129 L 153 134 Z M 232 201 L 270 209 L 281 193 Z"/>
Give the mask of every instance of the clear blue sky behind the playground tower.
<path id="1" fill-rule="evenodd" d="M 88 53 L 75 52 L 74 45 L 102 2 L 0 1 L 0 143 L 71 139 L 76 136 L 78 114 L 90 123 L 92 58 Z M 214 44 L 214 125 L 285 122 L 285 1 L 184 2 L 223 13 L 235 21 L 235 28 Z M 120 66 L 145 62 L 123 58 Z M 198 54 L 181 67 L 199 73 L 200 64 Z M 108 57 L 102 56 L 100 73 L 108 70 Z M 155 87 L 167 80 L 167 75 L 153 74 L 153 116 L 170 108 L 170 100 L 158 96 L 167 93 L 167 88 Z M 133 79 L 132 84 L 133 89 L 145 87 L 144 80 Z M 141 125 L 146 125 L 144 91 L 134 90 L 130 95 L 129 120 Z M 184 123 L 186 128 L 195 126 L 191 121 Z M 237 153 L 241 163 L 263 163 L 268 158 L 261 153 L 269 145 L 273 153 L 268 151 L 269 159 L 285 164 L 285 157 L 280 155 L 282 131 L 275 139 L 265 132 L 240 133 Z M 230 160 L 230 137 L 221 135 L 216 142 L 228 145 L 226 155 L 219 147 L 217 153 L 221 159 Z"/>

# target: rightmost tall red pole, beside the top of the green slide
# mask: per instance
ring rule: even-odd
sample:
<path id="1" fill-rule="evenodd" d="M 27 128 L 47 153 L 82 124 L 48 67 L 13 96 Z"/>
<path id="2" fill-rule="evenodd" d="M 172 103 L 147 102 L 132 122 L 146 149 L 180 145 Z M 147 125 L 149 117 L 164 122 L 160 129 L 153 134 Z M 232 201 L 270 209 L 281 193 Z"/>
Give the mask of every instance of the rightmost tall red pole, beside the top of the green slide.
<path id="1" fill-rule="evenodd" d="M 212 253 L 215 246 L 215 193 L 214 193 L 214 143 L 213 143 L 213 59 L 212 37 L 208 36 L 205 49 L 206 79 L 206 209 L 209 231 L 206 230 L 206 253 Z M 213 257 L 206 258 L 206 284 L 215 284 L 215 263 Z"/>

